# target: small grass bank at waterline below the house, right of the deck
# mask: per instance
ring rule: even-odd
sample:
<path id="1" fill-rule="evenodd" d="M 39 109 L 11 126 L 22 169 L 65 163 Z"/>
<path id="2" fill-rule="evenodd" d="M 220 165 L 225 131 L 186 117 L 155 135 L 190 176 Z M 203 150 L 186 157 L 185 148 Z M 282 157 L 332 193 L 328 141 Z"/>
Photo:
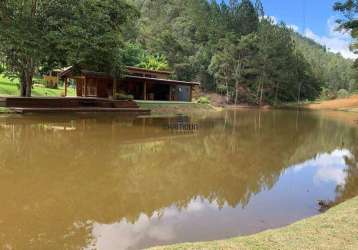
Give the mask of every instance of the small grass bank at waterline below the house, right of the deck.
<path id="1" fill-rule="evenodd" d="M 137 101 L 139 107 L 150 109 L 152 114 L 191 114 L 208 111 L 219 111 L 220 109 L 210 104 L 199 104 L 191 102 L 162 102 L 162 101 Z"/>

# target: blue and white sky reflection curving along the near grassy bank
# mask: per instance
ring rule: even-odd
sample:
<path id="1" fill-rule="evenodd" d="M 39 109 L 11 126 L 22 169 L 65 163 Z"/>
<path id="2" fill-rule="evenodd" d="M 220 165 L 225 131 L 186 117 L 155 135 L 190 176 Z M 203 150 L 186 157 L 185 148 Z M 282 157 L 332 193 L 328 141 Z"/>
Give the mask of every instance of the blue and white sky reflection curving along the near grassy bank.
<path id="1" fill-rule="evenodd" d="M 205 241 L 252 234 L 280 227 L 318 213 L 317 200 L 335 198 L 346 179 L 348 150 L 317 155 L 286 170 L 275 186 L 252 196 L 236 208 L 194 198 L 186 209 L 172 206 L 151 218 L 140 215 L 135 224 L 93 223 L 91 245 L 96 249 L 138 249 L 159 244 Z M 204 229 L 205 230 L 202 230 Z"/>

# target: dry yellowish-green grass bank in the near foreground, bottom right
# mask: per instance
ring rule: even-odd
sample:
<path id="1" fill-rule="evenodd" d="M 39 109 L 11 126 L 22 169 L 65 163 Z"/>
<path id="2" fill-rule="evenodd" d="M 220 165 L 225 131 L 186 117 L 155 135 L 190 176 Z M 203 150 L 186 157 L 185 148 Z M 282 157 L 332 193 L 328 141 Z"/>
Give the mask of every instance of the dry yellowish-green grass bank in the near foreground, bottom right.
<path id="1" fill-rule="evenodd" d="M 358 249 L 358 197 L 282 229 L 153 249 Z"/>

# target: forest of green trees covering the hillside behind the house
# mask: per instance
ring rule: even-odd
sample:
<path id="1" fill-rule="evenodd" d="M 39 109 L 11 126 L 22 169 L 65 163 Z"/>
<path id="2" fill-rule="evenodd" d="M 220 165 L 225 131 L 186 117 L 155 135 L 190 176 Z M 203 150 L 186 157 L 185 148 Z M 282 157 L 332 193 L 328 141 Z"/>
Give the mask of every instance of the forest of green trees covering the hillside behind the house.
<path id="1" fill-rule="evenodd" d="M 0 71 L 20 79 L 23 96 L 34 75 L 69 65 L 114 78 L 124 65 L 170 70 L 235 104 L 358 89 L 353 60 L 268 16 L 260 0 L 2 1 Z"/>

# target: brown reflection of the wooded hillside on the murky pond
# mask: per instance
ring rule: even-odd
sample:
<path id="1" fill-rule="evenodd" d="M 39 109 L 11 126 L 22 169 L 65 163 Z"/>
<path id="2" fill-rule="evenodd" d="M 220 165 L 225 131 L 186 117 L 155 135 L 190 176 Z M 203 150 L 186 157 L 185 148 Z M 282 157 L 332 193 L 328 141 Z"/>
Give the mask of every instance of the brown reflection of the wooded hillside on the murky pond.
<path id="1" fill-rule="evenodd" d="M 297 126 L 295 115 L 227 113 L 195 120 L 199 133 L 183 136 L 163 129 L 163 119 L 5 120 L 1 241 L 22 248 L 30 239 L 43 244 L 45 237 L 48 247 L 56 242 L 80 248 L 89 240 L 86 221 L 134 223 L 141 213 L 150 217 L 171 205 L 185 209 L 196 197 L 245 206 L 252 195 L 272 188 L 289 164 L 334 149 L 352 132 L 314 115 Z M 342 133 L 334 136 L 337 128 Z M 344 190 L 352 185 L 349 178 Z M 20 221 L 26 223 L 13 226 Z"/>

